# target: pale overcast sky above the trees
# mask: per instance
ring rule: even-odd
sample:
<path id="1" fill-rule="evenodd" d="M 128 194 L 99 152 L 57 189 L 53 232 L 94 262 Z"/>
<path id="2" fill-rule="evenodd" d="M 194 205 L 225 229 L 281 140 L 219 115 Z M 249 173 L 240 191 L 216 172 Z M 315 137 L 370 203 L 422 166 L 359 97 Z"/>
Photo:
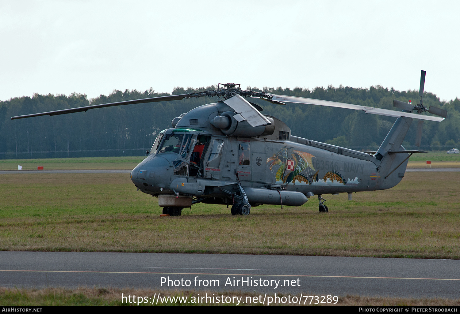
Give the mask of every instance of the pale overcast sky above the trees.
<path id="1" fill-rule="evenodd" d="M 0 0 L 0 100 L 217 83 L 460 97 L 460 1 Z"/>

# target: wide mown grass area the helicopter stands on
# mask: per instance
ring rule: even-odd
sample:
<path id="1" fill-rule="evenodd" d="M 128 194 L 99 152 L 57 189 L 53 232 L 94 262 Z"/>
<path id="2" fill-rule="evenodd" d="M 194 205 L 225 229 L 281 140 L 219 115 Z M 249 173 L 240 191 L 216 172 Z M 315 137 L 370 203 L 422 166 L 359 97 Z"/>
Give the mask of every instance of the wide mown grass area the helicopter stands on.
<path id="1" fill-rule="evenodd" d="M 407 173 L 395 188 L 312 197 L 231 216 L 196 204 L 160 217 L 127 174 L 0 175 L 0 250 L 460 258 L 460 173 Z"/>

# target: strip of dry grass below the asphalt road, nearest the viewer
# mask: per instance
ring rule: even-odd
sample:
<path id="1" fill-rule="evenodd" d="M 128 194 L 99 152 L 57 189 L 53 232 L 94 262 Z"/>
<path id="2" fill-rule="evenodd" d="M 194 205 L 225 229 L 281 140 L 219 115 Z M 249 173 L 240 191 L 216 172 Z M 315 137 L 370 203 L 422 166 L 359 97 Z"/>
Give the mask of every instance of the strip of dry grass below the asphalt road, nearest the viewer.
<path id="1" fill-rule="evenodd" d="M 121 293 L 124 296 L 138 296 L 152 298 L 160 293 L 161 297 L 187 297 L 186 303 L 121 303 Z M 173 290 L 153 290 L 153 289 L 118 289 L 118 288 L 86 288 L 75 289 L 66 288 L 45 288 L 45 289 L 17 289 L 0 288 L 0 306 L 59 306 L 59 305 L 124 305 L 124 306 L 164 306 L 164 305 L 236 305 L 234 303 L 188 303 L 191 297 L 208 295 L 223 295 L 224 297 L 241 297 L 241 301 L 246 301 L 246 297 L 259 297 L 260 294 L 253 292 L 215 292 L 215 291 L 173 291 Z M 322 295 L 310 293 L 312 296 Z M 274 295 L 268 295 L 273 297 Z M 287 294 L 277 293 L 276 296 L 283 297 Z M 300 295 L 295 295 L 300 297 Z M 262 295 L 262 298 L 264 295 Z M 293 297 L 293 296 L 292 296 Z M 132 300 L 132 299 L 131 299 Z M 177 299 L 176 299 L 177 300 Z M 301 300 L 301 306 L 310 305 L 311 298 Z M 316 299 L 312 303 L 315 303 Z M 240 303 L 241 305 L 262 305 L 260 303 Z M 270 304 L 270 305 L 299 305 L 299 304 Z M 313 304 L 311 304 L 313 305 Z M 318 304 L 322 306 L 459 306 L 460 299 L 443 298 L 402 298 L 402 297 L 365 297 L 365 296 L 339 296 L 339 301 L 332 303 Z M 265 303 L 266 306 L 266 303 Z"/>

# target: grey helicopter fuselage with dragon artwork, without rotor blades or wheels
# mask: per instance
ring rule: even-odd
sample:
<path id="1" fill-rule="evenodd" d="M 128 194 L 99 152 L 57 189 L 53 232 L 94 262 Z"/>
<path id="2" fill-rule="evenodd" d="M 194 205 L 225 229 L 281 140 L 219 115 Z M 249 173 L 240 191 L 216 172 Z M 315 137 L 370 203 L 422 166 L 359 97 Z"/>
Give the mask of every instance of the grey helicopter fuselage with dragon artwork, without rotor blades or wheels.
<path id="1" fill-rule="evenodd" d="M 299 206 L 313 195 L 388 189 L 404 176 L 408 154 L 378 160 L 293 136 L 275 117 L 266 115 L 270 125 L 252 127 L 236 114 L 218 102 L 175 118 L 177 124 L 158 135 L 149 156 L 132 170 L 134 185 L 153 196 L 230 205 L 240 185 L 253 206 Z"/>

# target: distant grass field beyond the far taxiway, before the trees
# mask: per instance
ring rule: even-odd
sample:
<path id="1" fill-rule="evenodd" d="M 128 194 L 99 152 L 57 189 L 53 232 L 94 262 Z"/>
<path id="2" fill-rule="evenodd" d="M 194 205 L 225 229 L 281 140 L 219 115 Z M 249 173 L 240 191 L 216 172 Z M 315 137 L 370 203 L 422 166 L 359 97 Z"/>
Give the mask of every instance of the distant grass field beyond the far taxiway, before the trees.
<path id="1" fill-rule="evenodd" d="M 0 170 L 36 170 L 44 166 L 46 170 L 132 170 L 144 157 L 86 157 L 47 159 L 0 159 Z M 446 154 L 445 151 L 431 151 L 414 154 L 409 158 L 408 168 L 425 168 L 426 160 L 432 161 L 431 168 L 460 168 L 460 154 Z"/>

